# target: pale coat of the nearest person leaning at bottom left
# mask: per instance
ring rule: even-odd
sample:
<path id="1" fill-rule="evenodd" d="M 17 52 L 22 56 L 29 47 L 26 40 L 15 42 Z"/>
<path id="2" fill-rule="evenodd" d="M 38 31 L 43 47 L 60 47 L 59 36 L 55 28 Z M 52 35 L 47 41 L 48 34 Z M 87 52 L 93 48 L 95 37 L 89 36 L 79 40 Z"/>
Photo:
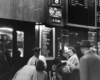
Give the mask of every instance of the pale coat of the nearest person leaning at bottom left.
<path id="1" fill-rule="evenodd" d="M 25 65 L 17 71 L 12 80 L 47 80 L 47 73 L 38 72 L 35 66 Z"/>

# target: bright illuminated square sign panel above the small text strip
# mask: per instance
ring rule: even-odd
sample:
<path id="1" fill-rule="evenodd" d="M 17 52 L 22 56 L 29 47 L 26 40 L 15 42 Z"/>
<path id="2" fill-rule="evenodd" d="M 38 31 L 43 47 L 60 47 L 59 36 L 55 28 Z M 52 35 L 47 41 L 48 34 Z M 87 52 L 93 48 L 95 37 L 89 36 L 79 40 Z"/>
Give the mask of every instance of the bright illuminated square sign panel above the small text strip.
<path id="1" fill-rule="evenodd" d="M 62 18 L 62 9 L 56 7 L 49 7 L 49 16 L 55 18 Z"/>

